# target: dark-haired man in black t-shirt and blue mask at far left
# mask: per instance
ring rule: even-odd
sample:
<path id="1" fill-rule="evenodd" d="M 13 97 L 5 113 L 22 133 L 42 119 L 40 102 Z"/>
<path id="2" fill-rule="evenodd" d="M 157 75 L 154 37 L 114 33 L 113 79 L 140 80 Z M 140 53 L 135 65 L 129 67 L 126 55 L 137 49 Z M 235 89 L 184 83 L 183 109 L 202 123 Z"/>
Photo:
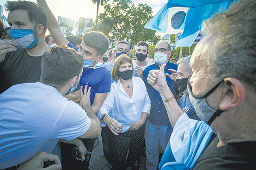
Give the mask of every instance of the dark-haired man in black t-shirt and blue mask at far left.
<path id="1" fill-rule="evenodd" d="M 29 1 L 8 1 L 5 8 L 9 11 L 13 40 L 0 41 L 0 93 L 15 84 L 39 81 L 41 58 L 50 48 L 44 38 L 46 15 L 38 5 Z"/>

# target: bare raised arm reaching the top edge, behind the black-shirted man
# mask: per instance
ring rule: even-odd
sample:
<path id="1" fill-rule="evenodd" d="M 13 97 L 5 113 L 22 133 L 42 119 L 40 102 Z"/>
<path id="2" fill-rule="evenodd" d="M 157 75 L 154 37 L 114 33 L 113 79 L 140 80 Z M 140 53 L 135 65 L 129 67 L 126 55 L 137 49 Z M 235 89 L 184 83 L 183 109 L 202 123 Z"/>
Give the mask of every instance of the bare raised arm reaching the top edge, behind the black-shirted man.
<path id="1" fill-rule="evenodd" d="M 37 0 L 38 5 L 41 9 L 45 10 L 47 15 L 47 29 L 49 30 L 53 40 L 57 43 L 57 45 L 68 45 L 69 41 L 66 40 L 65 36 L 62 34 L 62 30 L 59 28 L 59 24 L 52 14 L 52 11 L 48 7 L 45 0 Z"/>

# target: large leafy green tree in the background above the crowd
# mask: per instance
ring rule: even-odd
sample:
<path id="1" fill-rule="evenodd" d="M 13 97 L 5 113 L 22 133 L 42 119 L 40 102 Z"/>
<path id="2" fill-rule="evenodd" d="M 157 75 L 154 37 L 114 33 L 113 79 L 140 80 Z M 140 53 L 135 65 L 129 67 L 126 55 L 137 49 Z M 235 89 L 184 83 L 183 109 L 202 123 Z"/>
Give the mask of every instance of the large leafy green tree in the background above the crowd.
<path id="1" fill-rule="evenodd" d="M 153 17 L 152 9 L 147 4 L 137 6 L 131 0 L 114 0 L 106 4 L 99 14 L 99 31 L 111 39 L 126 39 L 131 46 L 138 41 L 156 43 L 160 40 L 154 30 L 144 29 L 144 25 Z"/>

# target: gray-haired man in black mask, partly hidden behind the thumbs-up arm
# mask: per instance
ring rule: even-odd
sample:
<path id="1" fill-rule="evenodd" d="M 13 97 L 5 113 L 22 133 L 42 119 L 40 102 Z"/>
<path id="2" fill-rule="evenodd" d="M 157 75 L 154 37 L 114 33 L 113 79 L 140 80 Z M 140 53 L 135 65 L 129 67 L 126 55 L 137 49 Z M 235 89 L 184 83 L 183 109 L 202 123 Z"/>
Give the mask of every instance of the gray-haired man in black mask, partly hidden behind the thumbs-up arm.
<path id="1" fill-rule="evenodd" d="M 188 97 L 188 92 L 187 92 L 187 80 L 188 78 L 191 77 L 192 74 L 192 69 L 190 66 L 190 58 L 191 56 L 187 56 L 185 58 L 180 59 L 177 64 L 178 64 L 178 69 L 173 70 L 169 69 L 169 71 L 172 72 L 172 74 L 166 73 L 166 75 L 176 81 L 176 84 L 178 86 L 178 90 L 183 96 L 179 100 L 179 106 L 184 112 L 186 112 L 187 116 L 196 119 L 200 121 L 200 118 L 197 116 L 196 111 L 194 110 L 194 107 L 192 106 L 190 102 L 190 98 Z M 170 135 L 172 134 L 173 128 L 172 125 L 169 124 L 167 131 L 166 131 L 166 143 L 168 143 L 170 139 Z"/>

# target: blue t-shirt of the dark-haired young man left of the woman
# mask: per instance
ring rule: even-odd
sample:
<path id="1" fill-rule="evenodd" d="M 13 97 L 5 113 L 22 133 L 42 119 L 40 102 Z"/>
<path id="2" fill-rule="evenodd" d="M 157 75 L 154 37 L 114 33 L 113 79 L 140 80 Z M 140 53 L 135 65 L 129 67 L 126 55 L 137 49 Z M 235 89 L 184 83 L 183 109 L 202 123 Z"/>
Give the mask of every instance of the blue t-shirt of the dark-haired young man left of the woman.
<path id="1" fill-rule="evenodd" d="M 80 85 L 91 87 L 90 104 L 93 104 L 95 93 L 108 93 L 111 88 L 111 74 L 106 67 L 84 68 Z"/>

